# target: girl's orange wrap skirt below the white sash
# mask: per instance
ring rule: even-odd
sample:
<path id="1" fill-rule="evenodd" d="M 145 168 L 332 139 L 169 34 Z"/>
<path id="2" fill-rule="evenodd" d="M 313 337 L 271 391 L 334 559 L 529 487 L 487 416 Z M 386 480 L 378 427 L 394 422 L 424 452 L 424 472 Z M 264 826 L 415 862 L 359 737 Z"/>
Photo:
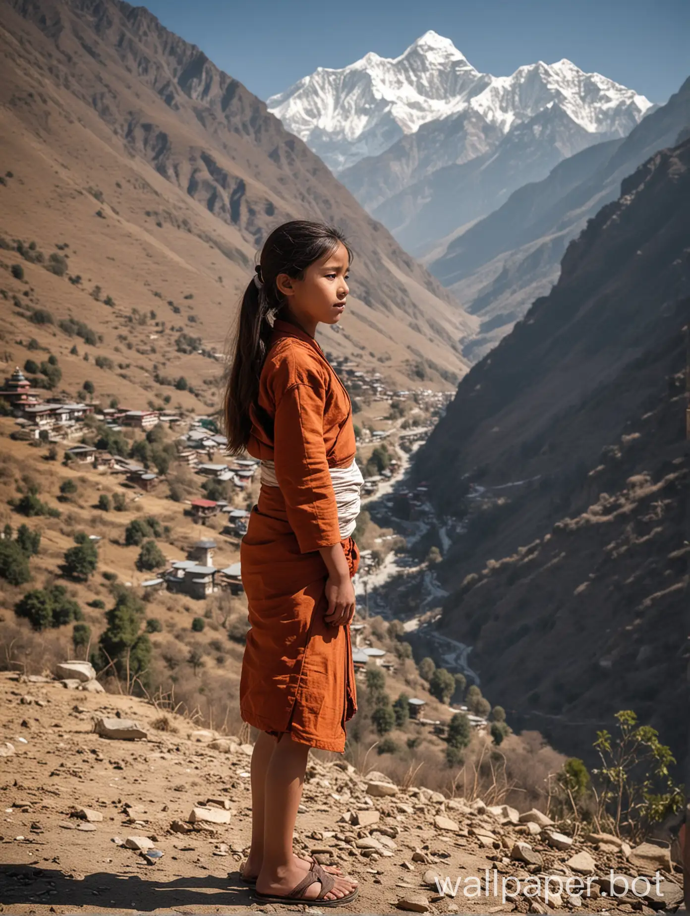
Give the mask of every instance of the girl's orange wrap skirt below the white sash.
<path id="1" fill-rule="evenodd" d="M 357 708 L 350 627 L 325 622 L 325 563 L 319 551 L 300 552 L 281 497 L 267 489 L 240 547 L 250 627 L 240 712 L 261 731 L 342 753 Z M 351 537 L 341 543 L 352 577 L 359 550 Z"/>

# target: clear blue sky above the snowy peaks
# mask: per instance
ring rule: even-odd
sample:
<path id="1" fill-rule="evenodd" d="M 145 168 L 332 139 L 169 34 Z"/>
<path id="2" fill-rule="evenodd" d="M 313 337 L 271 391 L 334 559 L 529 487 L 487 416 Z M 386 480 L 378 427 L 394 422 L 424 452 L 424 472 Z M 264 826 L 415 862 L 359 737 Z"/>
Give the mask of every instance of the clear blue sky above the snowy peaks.
<path id="1" fill-rule="evenodd" d="M 477 70 L 568 58 L 665 102 L 690 75 L 690 0 L 148 0 L 163 25 L 192 41 L 266 99 L 317 67 L 374 50 L 396 57 L 429 28 L 452 38 Z"/>

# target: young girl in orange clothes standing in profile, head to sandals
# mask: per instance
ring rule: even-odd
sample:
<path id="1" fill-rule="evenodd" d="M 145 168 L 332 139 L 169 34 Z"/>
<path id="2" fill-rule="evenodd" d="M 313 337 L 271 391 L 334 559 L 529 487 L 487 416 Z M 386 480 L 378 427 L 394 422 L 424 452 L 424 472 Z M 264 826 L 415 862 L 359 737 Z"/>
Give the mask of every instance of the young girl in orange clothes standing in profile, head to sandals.
<path id="1" fill-rule="evenodd" d="M 261 461 L 240 551 L 251 627 L 240 709 L 260 730 L 242 874 L 268 902 L 338 906 L 358 892 L 338 868 L 292 852 L 309 748 L 342 753 L 356 713 L 349 624 L 363 478 L 350 398 L 314 340 L 319 323 L 345 311 L 351 260 L 343 234 L 323 224 L 295 221 L 268 236 L 225 396 L 228 452 Z"/>

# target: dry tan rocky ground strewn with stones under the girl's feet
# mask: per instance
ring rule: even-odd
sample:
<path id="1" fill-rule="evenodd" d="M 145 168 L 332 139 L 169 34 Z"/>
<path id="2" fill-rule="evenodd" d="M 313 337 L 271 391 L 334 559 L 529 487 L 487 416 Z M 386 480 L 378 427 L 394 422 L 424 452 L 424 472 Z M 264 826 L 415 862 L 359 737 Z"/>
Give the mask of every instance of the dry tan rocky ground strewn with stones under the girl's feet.
<path id="1" fill-rule="evenodd" d="M 251 746 L 78 683 L 0 676 L 0 909 L 36 916 L 280 911 L 255 902 L 238 873 L 250 839 Z M 125 735 L 127 720 L 143 737 L 96 731 Z M 645 900 L 612 900 L 610 868 L 628 876 L 659 869 L 667 909 L 681 898 L 680 868 L 659 846 L 630 850 L 541 812 L 396 787 L 335 756 L 310 762 L 295 847 L 358 879 L 359 898 L 343 908 L 356 913 L 663 910 L 653 880 Z M 454 888 L 460 878 L 455 897 L 439 893 L 437 876 Z M 509 876 L 531 892 L 541 878 L 541 899 L 520 893 L 502 902 Z M 546 876 L 554 878 L 548 907 Z M 589 897 L 559 896 L 555 878 L 568 876 L 584 883 L 594 876 Z"/>

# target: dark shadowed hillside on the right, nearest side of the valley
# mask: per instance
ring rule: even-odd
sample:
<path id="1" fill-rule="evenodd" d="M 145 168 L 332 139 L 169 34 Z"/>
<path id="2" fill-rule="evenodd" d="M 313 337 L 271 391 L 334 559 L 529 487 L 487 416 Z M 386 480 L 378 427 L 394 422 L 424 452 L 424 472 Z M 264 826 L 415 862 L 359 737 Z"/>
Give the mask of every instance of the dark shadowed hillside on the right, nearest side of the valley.
<path id="1" fill-rule="evenodd" d="M 681 760 L 690 143 L 621 191 L 465 376 L 413 472 L 439 524 L 463 519 L 443 627 L 474 647 L 482 689 L 562 749 L 577 723 L 637 709 Z"/>

